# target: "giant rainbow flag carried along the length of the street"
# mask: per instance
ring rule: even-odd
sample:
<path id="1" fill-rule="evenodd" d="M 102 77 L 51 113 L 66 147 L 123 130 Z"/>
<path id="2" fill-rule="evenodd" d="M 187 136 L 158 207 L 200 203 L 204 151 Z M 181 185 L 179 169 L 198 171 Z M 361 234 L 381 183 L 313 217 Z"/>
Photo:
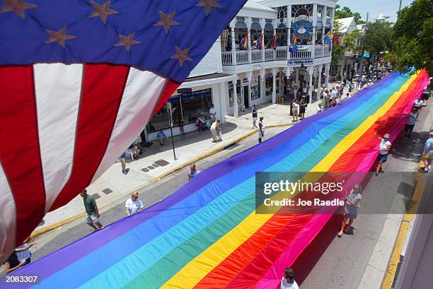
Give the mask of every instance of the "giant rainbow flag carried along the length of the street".
<path id="1" fill-rule="evenodd" d="M 393 141 L 428 81 L 391 74 L 14 273 L 39 276 L 37 288 L 277 288 L 332 214 L 256 214 L 255 172 L 369 171 L 374 134 Z"/>

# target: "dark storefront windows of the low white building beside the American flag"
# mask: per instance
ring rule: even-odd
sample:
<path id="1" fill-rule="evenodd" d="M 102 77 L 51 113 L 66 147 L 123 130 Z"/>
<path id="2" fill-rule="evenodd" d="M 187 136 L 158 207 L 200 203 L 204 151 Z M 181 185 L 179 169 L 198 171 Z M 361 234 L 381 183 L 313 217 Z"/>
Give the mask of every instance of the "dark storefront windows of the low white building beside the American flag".
<path id="1" fill-rule="evenodd" d="M 171 102 L 173 112 L 173 126 L 178 126 L 183 119 L 185 124 L 195 122 L 197 117 L 206 120 L 209 118 L 209 109 L 212 104 L 212 90 L 193 91 L 192 94 L 173 95 Z M 149 133 L 170 127 L 170 118 L 167 106 L 164 105 L 147 125 Z"/>

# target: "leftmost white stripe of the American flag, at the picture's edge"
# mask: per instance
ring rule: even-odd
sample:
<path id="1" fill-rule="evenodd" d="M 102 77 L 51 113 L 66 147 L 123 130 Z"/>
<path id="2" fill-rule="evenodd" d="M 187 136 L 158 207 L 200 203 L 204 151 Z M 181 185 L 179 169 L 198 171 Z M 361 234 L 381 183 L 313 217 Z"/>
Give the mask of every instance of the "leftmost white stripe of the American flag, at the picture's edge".
<path id="1" fill-rule="evenodd" d="M 3 167 L 0 164 L 0 260 L 6 260 L 8 254 L 15 249 L 15 233 L 15 200 Z"/>

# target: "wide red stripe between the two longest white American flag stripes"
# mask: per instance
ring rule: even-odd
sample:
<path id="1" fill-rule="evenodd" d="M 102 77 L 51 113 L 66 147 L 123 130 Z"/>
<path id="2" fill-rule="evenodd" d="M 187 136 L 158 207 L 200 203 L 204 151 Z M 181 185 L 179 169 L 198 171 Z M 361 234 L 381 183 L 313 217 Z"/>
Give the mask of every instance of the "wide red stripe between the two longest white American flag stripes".
<path id="1" fill-rule="evenodd" d="M 50 211 L 86 188 L 102 160 L 115 124 L 129 66 L 85 64 L 71 177 Z"/>

